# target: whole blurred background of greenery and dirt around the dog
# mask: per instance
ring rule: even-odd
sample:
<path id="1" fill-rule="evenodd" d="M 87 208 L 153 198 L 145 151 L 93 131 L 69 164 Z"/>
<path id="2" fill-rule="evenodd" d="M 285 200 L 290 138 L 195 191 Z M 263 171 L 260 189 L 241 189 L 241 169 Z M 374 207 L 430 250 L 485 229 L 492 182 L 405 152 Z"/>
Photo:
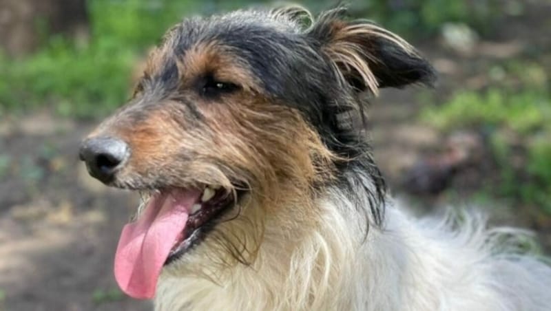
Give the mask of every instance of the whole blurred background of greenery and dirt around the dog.
<path id="1" fill-rule="evenodd" d="M 297 1 L 314 12 L 335 1 Z M 551 1 L 362 0 L 439 72 L 386 90 L 375 158 L 419 215 L 477 206 L 551 246 Z M 262 1 L 0 0 L 0 310 L 149 310 L 112 273 L 136 197 L 89 178 L 78 144 L 129 98 L 149 48 L 184 16 Z"/>

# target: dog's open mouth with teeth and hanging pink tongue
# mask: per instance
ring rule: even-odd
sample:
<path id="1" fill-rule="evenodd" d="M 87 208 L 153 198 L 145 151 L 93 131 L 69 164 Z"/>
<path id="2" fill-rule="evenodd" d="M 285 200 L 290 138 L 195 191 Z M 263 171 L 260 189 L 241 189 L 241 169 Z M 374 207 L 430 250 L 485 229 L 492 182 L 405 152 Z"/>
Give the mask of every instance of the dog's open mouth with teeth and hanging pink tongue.
<path id="1" fill-rule="evenodd" d="M 115 255 L 115 278 L 129 296 L 150 299 L 163 266 L 202 242 L 238 200 L 221 186 L 169 188 L 145 195 L 125 225 Z"/>

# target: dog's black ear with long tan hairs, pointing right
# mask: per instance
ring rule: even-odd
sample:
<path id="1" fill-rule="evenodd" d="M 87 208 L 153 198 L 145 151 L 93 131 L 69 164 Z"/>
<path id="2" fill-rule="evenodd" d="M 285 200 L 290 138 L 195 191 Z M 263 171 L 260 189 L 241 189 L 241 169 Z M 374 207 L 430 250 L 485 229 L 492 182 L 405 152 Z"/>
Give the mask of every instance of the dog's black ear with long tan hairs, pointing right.
<path id="1" fill-rule="evenodd" d="M 346 8 L 322 14 L 307 31 L 321 44 L 337 76 L 357 91 L 432 85 L 435 71 L 409 43 L 370 21 L 346 21 Z"/>

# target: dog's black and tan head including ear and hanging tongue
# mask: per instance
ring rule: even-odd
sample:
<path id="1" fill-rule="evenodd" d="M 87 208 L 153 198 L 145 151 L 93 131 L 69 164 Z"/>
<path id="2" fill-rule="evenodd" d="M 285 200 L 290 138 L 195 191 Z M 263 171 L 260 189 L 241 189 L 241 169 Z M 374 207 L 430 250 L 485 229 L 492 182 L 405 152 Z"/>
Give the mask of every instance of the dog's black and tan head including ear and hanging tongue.
<path id="1" fill-rule="evenodd" d="M 364 153 L 346 118 L 364 94 L 432 80 L 408 43 L 343 13 L 239 11 L 167 32 L 81 147 L 91 175 L 149 197 L 119 242 L 123 290 L 148 298 L 163 266 L 249 264 L 267 226 L 315 226 L 315 197 Z"/>

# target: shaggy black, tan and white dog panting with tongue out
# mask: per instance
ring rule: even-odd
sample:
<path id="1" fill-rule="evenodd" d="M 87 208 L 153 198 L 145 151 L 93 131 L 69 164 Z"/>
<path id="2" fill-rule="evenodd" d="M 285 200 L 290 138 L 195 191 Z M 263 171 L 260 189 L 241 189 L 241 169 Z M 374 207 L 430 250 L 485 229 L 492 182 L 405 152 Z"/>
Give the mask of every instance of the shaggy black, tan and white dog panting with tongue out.
<path id="1" fill-rule="evenodd" d="M 416 219 L 364 135 L 370 96 L 431 85 L 409 43 L 346 8 L 191 18 L 81 144 L 138 191 L 114 274 L 156 310 L 551 310 L 551 268 L 475 212 Z"/>

